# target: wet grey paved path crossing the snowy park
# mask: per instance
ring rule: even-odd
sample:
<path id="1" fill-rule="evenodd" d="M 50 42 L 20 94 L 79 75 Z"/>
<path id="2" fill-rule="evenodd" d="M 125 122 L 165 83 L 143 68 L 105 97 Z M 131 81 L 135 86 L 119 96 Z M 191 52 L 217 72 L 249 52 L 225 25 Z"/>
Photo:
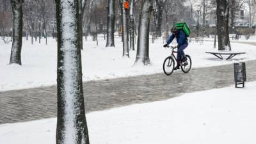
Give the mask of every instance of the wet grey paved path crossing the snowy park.
<path id="1" fill-rule="evenodd" d="M 256 61 L 246 62 L 248 81 L 256 81 Z M 182 93 L 234 85 L 234 66 L 196 68 L 188 74 L 153 74 L 83 83 L 86 112 L 152 102 Z M 246 84 L 245 84 L 246 86 Z M 0 92 L 0 124 L 56 117 L 56 86 Z"/>

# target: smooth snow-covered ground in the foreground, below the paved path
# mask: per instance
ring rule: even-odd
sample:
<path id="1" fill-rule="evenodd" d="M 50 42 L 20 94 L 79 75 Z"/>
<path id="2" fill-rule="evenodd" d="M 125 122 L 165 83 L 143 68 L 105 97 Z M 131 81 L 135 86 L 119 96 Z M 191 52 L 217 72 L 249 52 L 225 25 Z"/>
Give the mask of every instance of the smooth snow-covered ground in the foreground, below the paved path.
<path id="1" fill-rule="evenodd" d="M 88 113 L 92 144 L 255 144 L 256 82 Z M 245 94 L 246 93 L 246 94 Z M 54 144 L 56 118 L 0 125 L 2 144 Z"/>

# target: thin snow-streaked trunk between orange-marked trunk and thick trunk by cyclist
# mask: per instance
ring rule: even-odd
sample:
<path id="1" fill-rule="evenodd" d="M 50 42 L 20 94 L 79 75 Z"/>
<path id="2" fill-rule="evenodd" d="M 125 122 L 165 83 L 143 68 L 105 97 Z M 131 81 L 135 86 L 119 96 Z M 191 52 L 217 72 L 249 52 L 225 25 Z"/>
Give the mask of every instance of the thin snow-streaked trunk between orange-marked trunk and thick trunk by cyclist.
<path id="1" fill-rule="evenodd" d="M 134 51 L 134 0 L 130 1 L 130 51 Z"/>

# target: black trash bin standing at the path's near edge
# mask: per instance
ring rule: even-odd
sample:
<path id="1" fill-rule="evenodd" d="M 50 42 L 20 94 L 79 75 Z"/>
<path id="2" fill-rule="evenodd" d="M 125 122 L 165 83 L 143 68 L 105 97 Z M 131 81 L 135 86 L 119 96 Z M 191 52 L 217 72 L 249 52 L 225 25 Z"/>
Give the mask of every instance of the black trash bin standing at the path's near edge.
<path id="1" fill-rule="evenodd" d="M 235 86 L 243 84 L 244 88 L 244 81 L 246 81 L 246 69 L 245 63 L 234 63 L 234 76 L 235 76 Z"/>

